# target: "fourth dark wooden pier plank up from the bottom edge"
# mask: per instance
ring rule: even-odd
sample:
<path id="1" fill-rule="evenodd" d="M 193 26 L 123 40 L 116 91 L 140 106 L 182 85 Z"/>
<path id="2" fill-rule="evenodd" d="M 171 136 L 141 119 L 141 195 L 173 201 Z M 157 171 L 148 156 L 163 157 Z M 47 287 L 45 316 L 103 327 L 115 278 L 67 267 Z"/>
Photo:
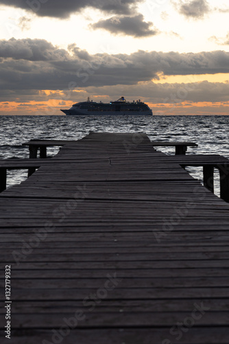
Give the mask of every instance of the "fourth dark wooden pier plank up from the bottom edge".
<path id="1" fill-rule="evenodd" d="M 123 281 L 122 281 L 123 282 Z M 106 283 L 106 279 L 103 283 L 101 283 L 101 289 L 104 289 L 104 283 Z M 124 283 L 124 282 L 123 282 Z M 121 285 L 121 282 L 120 282 Z M 100 289 L 99 288 L 99 289 Z M 29 300 L 84 300 L 88 295 L 91 293 L 96 293 L 96 288 L 58 288 L 58 289 L 45 289 L 45 288 L 25 288 L 19 289 L 14 288 L 14 295 L 12 295 L 12 302 L 14 301 L 29 301 Z M 102 293 L 102 297 L 104 297 L 104 292 Z M 106 292 L 105 292 L 106 293 Z M 108 297 L 109 290 L 107 290 L 106 297 Z M 16 297 L 15 297 L 16 295 Z M 34 296 L 36 295 L 36 296 Z M 229 288 L 228 287 L 216 287 L 216 288 L 173 288 L 173 287 L 163 287 L 163 288 L 123 288 L 121 286 L 115 288 L 114 290 L 110 291 L 109 299 L 195 299 L 199 296 L 200 299 L 210 297 L 213 298 L 229 298 Z M 3 299 L 5 297 L 5 293 L 2 292 L 2 288 L 0 291 L 0 297 Z M 102 299 L 101 297 L 101 299 Z M 217 320 L 215 320 L 217 323 Z"/>

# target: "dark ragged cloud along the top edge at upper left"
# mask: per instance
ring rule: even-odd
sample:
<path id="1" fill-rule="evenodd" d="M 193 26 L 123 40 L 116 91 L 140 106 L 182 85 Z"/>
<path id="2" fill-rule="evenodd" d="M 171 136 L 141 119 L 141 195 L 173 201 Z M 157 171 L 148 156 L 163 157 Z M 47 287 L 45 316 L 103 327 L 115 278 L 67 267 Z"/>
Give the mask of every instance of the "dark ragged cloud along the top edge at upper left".
<path id="1" fill-rule="evenodd" d="M 0 5 L 32 10 L 40 17 L 68 18 L 72 13 L 92 7 L 114 14 L 131 14 L 143 0 L 0 0 Z"/>

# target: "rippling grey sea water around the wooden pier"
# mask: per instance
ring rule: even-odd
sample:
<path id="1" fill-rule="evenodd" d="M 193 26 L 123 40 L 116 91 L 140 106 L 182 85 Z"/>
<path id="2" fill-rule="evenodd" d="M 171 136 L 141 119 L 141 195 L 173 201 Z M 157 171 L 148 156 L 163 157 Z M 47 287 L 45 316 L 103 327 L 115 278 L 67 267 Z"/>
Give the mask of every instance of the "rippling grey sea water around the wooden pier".
<path id="1" fill-rule="evenodd" d="M 220 154 L 229 158 L 229 116 L 0 116 L 0 158 L 28 158 L 28 140 L 79 140 L 89 131 L 145 132 L 150 140 L 189 141 L 187 154 Z M 174 154 L 174 147 L 156 147 Z M 48 147 L 48 157 L 59 147 Z M 186 168 L 202 182 L 202 167 Z M 27 171 L 8 171 L 8 187 L 27 178 Z M 215 193 L 219 195 L 219 173 L 215 171 Z"/>

